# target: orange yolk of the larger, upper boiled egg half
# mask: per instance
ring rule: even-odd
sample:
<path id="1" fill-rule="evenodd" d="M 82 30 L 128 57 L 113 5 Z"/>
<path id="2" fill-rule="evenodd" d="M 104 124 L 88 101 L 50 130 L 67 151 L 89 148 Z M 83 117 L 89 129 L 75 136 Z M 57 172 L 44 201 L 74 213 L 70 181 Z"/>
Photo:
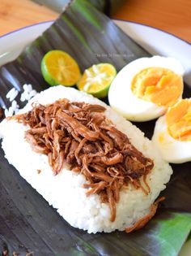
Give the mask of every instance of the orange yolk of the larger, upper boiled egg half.
<path id="1" fill-rule="evenodd" d="M 182 77 L 163 67 L 148 67 L 132 80 L 134 95 L 158 106 L 172 106 L 183 91 Z"/>

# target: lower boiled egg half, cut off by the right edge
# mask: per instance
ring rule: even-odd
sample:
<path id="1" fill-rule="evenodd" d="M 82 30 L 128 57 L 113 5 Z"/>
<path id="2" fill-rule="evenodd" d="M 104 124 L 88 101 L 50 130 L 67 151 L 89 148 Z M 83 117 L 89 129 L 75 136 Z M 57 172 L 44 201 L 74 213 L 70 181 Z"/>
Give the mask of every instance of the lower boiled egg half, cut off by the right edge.
<path id="1" fill-rule="evenodd" d="M 191 161 L 191 98 L 180 100 L 157 120 L 152 141 L 169 163 Z"/>

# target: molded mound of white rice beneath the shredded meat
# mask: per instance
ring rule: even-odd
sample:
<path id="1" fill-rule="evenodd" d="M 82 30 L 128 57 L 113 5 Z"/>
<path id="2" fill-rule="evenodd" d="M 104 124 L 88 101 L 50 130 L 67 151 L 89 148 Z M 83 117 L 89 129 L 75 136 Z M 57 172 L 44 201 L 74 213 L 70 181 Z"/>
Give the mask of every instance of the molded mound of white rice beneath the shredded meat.
<path id="1" fill-rule="evenodd" d="M 60 85 L 36 94 L 19 113 L 31 110 L 32 102 L 48 104 L 59 98 L 106 106 L 86 93 Z M 83 189 L 83 184 L 87 181 L 83 175 L 63 168 L 57 176 L 53 176 L 47 156 L 32 151 L 31 146 L 24 140 L 24 131 L 28 127 L 6 119 L 0 124 L 2 149 L 9 163 L 15 166 L 20 175 L 45 197 L 49 205 L 55 207 L 70 225 L 90 233 L 112 232 L 116 229 L 124 230 L 131 227 L 138 219 L 148 214 L 151 204 L 155 202 L 160 191 L 165 189 L 165 184 L 172 175 L 172 168 L 160 158 L 151 141 L 144 137 L 144 134 L 133 124 L 112 111 L 109 106 L 106 107 L 105 115 L 129 137 L 138 150 L 142 151 L 146 157 L 152 158 L 155 163 L 151 174 L 147 176 L 151 193 L 146 196 L 141 189 L 136 190 L 133 186 L 122 189 L 114 222 L 109 220 L 108 204 L 100 202 L 97 194 L 86 196 L 87 189 Z M 40 173 L 37 170 L 40 170 Z"/>

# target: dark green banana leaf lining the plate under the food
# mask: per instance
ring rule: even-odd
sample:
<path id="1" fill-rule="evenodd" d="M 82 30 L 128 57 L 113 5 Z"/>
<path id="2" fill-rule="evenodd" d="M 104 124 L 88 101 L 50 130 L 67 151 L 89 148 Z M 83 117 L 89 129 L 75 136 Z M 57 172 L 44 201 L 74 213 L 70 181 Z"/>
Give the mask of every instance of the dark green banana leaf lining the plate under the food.
<path id="1" fill-rule="evenodd" d="M 40 91 L 49 85 L 40 72 L 40 61 L 52 49 L 66 50 L 82 72 L 94 63 L 112 63 L 119 71 L 126 63 L 150 56 L 107 16 L 86 0 L 74 0 L 45 33 L 19 58 L 0 67 L 0 106 L 9 106 L 6 93 L 25 83 Z M 119 58 L 120 57 L 120 58 Z M 185 96 L 191 89 L 185 85 Z M 16 98 L 19 102 L 19 97 Z M 19 106 L 23 106 L 19 102 Z M 139 124 L 151 137 L 155 122 Z M 176 256 L 191 230 L 190 163 L 173 165 L 174 174 L 162 193 L 155 217 L 145 228 L 132 233 L 88 234 L 72 228 L 36 193 L 0 150 L 0 252 L 9 255 Z M 6 254 L 5 254 L 6 255 Z"/>

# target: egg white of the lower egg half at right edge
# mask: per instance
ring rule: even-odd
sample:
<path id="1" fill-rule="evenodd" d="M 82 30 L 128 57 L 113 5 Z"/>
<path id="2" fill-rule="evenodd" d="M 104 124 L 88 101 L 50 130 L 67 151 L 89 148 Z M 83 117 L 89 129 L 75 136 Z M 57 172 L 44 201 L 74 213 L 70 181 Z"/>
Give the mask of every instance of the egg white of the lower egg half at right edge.
<path id="1" fill-rule="evenodd" d="M 161 116 L 156 121 L 152 141 L 159 149 L 163 159 L 168 163 L 185 163 L 191 161 L 191 141 L 176 141 L 168 133 L 166 115 Z"/>

